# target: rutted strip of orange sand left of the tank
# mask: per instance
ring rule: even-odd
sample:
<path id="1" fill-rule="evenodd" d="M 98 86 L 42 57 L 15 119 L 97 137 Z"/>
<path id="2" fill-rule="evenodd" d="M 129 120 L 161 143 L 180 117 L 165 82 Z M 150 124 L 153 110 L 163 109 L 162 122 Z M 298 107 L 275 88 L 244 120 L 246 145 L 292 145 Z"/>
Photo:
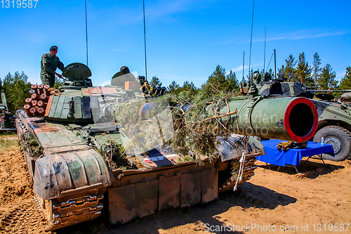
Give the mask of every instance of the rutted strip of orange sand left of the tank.
<path id="1" fill-rule="evenodd" d="M 37 211 L 32 179 L 16 136 L 0 136 L 0 232 L 43 233 L 46 220 Z"/>

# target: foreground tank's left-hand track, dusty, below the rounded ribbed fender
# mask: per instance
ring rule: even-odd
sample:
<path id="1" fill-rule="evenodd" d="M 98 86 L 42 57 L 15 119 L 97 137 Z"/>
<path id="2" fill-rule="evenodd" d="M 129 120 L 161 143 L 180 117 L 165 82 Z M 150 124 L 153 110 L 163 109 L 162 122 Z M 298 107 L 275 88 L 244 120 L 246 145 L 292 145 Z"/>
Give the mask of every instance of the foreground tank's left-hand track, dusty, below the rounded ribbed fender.
<path id="1" fill-rule="evenodd" d="M 90 195 L 79 194 L 77 197 L 71 195 L 46 200 L 45 205 L 43 205 L 43 200 L 36 195 L 34 202 L 38 209 L 44 212 L 49 223 L 46 230 L 50 231 L 97 218 L 101 214 L 103 205 L 100 200 L 104 195 L 98 190 L 95 193 L 96 195 L 91 195 L 89 191 Z"/>

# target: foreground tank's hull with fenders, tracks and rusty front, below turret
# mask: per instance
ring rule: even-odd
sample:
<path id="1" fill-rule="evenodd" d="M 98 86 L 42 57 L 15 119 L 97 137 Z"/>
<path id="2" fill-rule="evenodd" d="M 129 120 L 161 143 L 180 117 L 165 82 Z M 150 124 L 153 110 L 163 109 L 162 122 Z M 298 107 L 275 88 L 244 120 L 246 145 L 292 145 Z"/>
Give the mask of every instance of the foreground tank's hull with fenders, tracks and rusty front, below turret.
<path id="1" fill-rule="evenodd" d="M 231 164 L 239 163 L 243 152 L 241 147 L 216 160 L 205 157 L 202 165 L 179 163 L 179 155 L 161 152 L 161 160 L 159 155 L 150 155 L 146 170 L 110 169 L 67 124 L 27 117 L 24 111 L 18 112 L 16 124 L 22 145 L 30 134 L 43 148 L 40 157 L 28 148 L 24 155 L 34 181 L 34 200 L 49 221 L 47 230 L 95 219 L 103 210 L 109 211 L 110 226 L 119 226 L 166 209 L 216 200 L 218 193 L 234 188 Z M 265 153 L 258 141 L 249 145 L 238 185 L 254 175 L 254 156 Z"/>

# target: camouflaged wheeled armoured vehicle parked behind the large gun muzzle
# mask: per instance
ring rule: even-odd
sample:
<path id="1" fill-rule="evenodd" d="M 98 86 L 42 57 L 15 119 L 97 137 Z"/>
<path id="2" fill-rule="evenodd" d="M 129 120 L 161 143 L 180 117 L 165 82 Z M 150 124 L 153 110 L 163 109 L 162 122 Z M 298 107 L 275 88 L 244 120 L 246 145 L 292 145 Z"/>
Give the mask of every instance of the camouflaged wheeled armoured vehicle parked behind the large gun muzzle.
<path id="1" fill-rule="evenodd" d="M 294 82 L 288 82 L 293 79 Z M 350 91 L 350 90 L 332 90 Z M 331 90 L 312 90 L 289 73 L 288 77 L 280 73 L 278 79 L 272 79 L 270 74 L 265 74 L 263 82 L 258 72 L 253 74 L 253 82 L 249 86 L 241 84 L 241 92 L 251 93 L 253 96 L 270 97 L 305 97 L 311 98 L 318 112 L 317 133 L 313 138 L 315 142 L 333 145 L 335 157 L 322 154 L 324 160 L 342 161 L 351 155 L 351 109 L 345 103 L 341 104 L 334 100 Z M 324 92 L 318 93 L 316 92 Z M 314 96 L 318 99 L 312 99 Z M 301 112 L 300 115 L 305 115 Z"/>

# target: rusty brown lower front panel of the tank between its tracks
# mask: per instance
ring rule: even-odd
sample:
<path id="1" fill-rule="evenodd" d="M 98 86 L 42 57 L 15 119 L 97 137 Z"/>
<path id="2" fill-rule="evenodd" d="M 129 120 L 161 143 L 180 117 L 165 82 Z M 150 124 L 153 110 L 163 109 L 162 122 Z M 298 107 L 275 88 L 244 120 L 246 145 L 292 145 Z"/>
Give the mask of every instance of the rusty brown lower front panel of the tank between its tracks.
<path id="1" fill-rule="evenodd" d="M 114 171 L 117 178 L 118 171 Z M 124 173 L 108 189 L 110 225 L 175 207 L 206 203 L 218 197 L 215 162 L 185 164 L 143 173 Z"/>

